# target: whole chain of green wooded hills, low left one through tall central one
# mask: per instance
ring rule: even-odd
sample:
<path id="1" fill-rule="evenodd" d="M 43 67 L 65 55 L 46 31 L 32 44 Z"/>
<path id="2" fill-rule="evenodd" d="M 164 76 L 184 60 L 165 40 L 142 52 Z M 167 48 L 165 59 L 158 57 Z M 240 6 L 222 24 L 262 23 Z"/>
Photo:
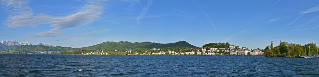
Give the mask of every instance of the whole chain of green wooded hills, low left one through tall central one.
<path id="1" fill-rule="evenodd" d="M 185 41 L 174 43 L 154 43 L 154 42 L 103 42 L 97 45 L 83 47 L 83 48 L 71 48 L 71 47 L 50 47 L 41 43 L 39 45 L 25 45 L 16 47 L 13 51 L 66 51 L 66 50 L 82 50 L 82 49 L 136 49 L 136 48 L 166 48 L 166 47 L 196 47 Z"/>

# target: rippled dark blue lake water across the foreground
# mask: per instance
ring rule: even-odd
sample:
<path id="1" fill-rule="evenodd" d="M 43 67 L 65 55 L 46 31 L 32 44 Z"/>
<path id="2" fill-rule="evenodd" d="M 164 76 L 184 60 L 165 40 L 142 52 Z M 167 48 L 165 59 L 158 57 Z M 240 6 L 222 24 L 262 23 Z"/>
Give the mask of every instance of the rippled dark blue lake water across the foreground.
<path id="1" fill-rule="evenodd" d="M 319 76 L 319 58 L 0 54 L 0 76 Z"/>

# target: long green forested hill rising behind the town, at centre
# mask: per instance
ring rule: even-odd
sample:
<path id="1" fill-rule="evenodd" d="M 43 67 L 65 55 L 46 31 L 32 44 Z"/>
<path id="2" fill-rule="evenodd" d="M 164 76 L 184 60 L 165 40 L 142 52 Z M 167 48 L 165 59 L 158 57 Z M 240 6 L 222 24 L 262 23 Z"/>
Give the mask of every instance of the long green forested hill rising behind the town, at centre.
<path id="1" fill-rule="evenodd" d="M 165 47 L 196 47 L 194 45 L 189 44 L 185 41 L 175 42 L 175 43 L 154 43 L 154 42 L 103 42 L 97 45 L 84 47 L 84 48 L 75 48 L 79 49 L 135 49 L 135 48 L 165 48 Z"/>

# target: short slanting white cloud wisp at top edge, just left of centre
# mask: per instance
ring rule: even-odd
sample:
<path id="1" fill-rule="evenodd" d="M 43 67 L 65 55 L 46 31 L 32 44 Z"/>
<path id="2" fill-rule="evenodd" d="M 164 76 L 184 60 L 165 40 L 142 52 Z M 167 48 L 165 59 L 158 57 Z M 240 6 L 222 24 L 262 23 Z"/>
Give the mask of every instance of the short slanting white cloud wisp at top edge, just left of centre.
<path id="1" fill-rule="evenodd" d="M 137 25 L 139 25 L 139 21 L 140 19 L 146 15 L 146 13 L 148 12 L 148 10 L 150 9 L 150 7 L 152 6 L 152 3 L 153 1 L 152 0 L 147 0 L 147 4 L 146 6 L 142 9 L 142 12 L 141 14 L 136 18 L 136 22 L 137 22 Z"/>

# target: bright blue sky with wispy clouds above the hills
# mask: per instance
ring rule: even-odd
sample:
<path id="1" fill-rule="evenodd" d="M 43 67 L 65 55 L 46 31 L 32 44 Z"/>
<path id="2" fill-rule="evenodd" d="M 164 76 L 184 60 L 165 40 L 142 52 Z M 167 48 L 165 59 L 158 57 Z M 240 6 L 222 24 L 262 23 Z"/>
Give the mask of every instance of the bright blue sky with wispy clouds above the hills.
<path id="1" fill-rule="evenodd" d="M 33 45 L 319 42 L 318 0 L 1 0 L 0 10 L 0 41 Z"/>

